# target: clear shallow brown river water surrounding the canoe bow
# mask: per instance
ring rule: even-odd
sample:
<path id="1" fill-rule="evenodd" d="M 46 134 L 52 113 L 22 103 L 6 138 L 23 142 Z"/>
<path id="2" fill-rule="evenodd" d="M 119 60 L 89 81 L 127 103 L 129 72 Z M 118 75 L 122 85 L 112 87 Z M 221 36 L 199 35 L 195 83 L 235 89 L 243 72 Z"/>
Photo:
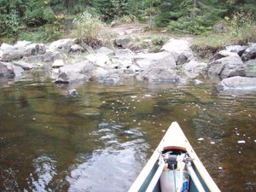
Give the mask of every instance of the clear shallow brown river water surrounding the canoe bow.
<path id="1" fill-rule="evenodd" d="M 89 83 L 73 97 L 71 88 L 32 79 L 0 90 L 2 191 L 127 191 L 172 121 L 222 191 L 256 191 L 255 92 Z"/>

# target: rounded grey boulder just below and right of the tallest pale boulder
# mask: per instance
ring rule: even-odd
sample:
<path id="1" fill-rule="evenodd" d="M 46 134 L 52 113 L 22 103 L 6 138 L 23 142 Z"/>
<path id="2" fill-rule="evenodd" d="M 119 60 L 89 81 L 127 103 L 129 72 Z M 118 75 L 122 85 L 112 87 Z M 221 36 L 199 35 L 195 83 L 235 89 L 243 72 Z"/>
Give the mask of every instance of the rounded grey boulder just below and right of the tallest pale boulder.
<path id="1" fill-rule="evenodd" d="M 207 63 L 195 60 L 189 61 L 188 63 L 183 65 L 183 70 L 186 73 L 186 75 L 189 76 L 189 78 L 198 77 L 201 73 L 205 72 L 206 68 Z"/>

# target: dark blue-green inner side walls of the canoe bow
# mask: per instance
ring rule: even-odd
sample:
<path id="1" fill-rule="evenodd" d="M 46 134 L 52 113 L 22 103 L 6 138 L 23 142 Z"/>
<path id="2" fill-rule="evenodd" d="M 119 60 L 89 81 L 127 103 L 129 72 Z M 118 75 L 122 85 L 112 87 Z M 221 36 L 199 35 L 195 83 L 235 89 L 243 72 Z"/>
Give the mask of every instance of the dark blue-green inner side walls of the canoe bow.
<path id="1" fill-rule="evenodd" d="M 154 173 L 156 172 L 157 168 L 158 168 L 158 161 L 154 164 L 151 172 L 148 174 L 148 177 L 145 179 L 144 183 L 142 184 L 141 188 L 139 189 L 139 192 L 145 192 L 146 191 L 146 189 L 148 188 L 148 184 L 152 180 L 152 177 L 154 177 Z M 210 192 L 210 190 L 207 188 L 207 184 L 204 182 L 204 180 L 202 179 L 201 175 L 199 174 L 199 172 L 197 171 L 197 169 L 195 168 L 194 165 L 193 165 L 193 168 L 195 170 L 195 173 L 196 173 L 197 177 L 201 181 L 201 184 L 204 187 L 205 191 Z M 153 192 L 161 192 L 160 180 L 155 185 Z M 191 178 L 189 179 L 189 192 L 198 192 L 198 189 L 196 189 L 195 183 L 193 183 Z"/>

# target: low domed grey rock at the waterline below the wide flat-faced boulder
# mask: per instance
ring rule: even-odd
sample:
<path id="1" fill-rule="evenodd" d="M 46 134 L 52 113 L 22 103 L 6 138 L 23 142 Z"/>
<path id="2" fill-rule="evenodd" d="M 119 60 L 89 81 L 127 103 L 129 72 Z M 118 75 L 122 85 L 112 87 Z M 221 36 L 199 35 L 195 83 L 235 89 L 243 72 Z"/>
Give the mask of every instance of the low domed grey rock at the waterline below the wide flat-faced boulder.
<path id="1" fill-rule="evenodd" d="M 163 82 L 176 84 L 180 81 L 176 73 L 166 70 L 166 68 L 150 69 L 148 72 L 142 73 L 140 79 L 148 82 Z"/>

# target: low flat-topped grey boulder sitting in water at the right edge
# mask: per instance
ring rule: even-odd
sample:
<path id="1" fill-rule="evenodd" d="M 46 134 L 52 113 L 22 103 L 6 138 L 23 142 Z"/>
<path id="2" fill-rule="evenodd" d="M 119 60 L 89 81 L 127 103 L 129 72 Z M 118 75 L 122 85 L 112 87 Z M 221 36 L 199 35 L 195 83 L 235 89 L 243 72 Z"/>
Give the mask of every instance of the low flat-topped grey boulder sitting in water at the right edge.
<path id="1" fill-rule="evenodd" d="M 256 78 L 232 77 L 223 79 L 217 85 L 218 90 L 256 90 Z"/>

